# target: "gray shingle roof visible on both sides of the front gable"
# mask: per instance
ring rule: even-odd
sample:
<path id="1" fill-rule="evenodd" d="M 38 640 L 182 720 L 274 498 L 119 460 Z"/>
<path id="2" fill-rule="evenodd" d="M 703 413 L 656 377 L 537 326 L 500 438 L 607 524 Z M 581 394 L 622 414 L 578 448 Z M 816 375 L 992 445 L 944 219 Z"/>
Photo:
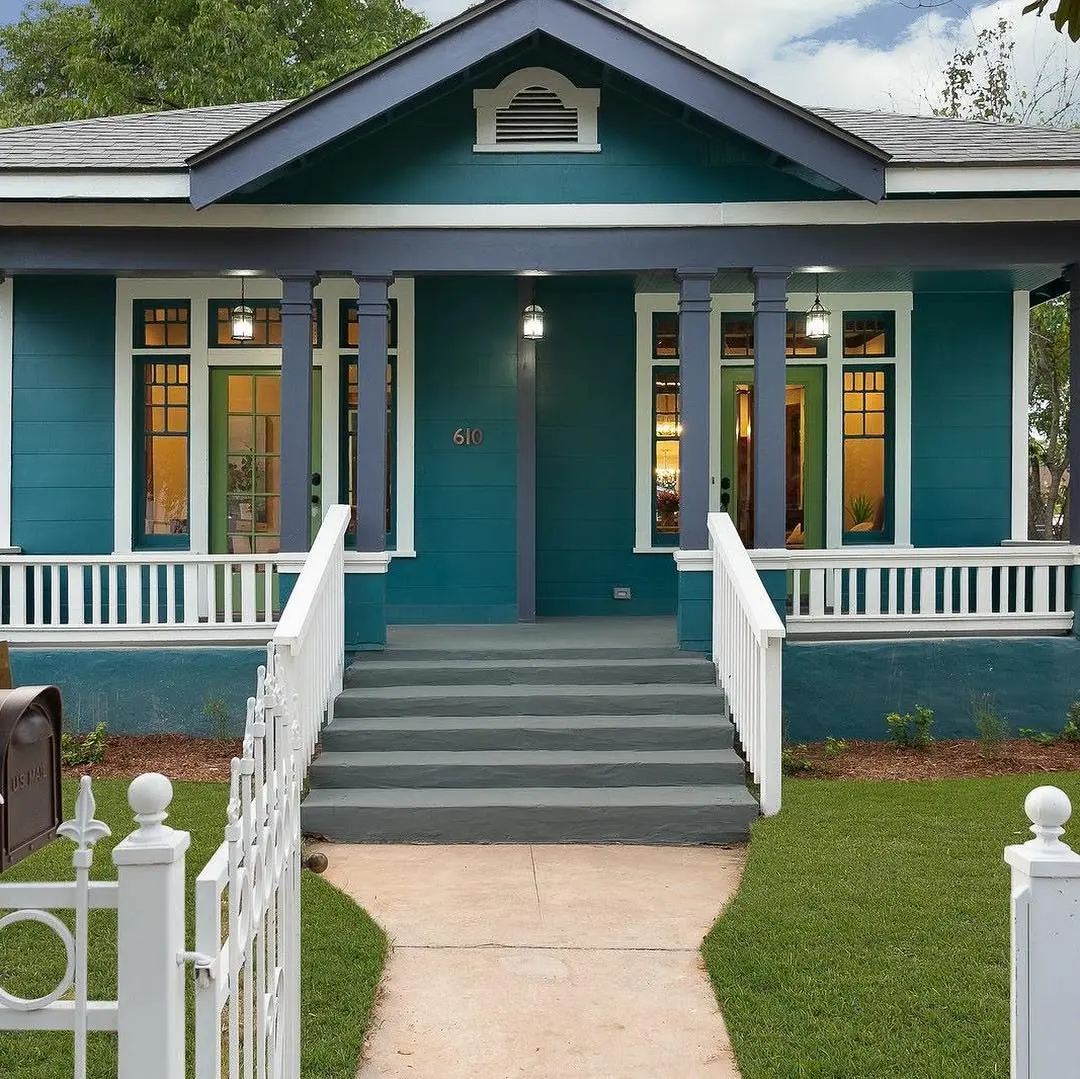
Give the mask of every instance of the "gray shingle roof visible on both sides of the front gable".
<path id="1" fill-rule="evenodd" d="M 71 120 L 0 130 L 0 170 L 183 170 L 187 159 L 287 102 Z M 893 165 L 1080 165 L 1080 131 L 855 109 L 813 110 L 892 154 Z"/>

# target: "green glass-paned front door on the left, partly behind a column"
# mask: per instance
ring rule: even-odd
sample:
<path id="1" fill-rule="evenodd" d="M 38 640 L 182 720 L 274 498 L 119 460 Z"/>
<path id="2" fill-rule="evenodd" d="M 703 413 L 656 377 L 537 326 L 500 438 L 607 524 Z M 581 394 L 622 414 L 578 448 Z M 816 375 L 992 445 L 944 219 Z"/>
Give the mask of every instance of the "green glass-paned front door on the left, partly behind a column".
<path id="1" fill-rule="evenodd" d="M 315 368 L 311 379 L 312 538 L 322 518 L 321 386 L 321 372 Z M 281 549 L 281 368 L 215 367 L 210 393 L 211 551 L 276 554 Z"/>

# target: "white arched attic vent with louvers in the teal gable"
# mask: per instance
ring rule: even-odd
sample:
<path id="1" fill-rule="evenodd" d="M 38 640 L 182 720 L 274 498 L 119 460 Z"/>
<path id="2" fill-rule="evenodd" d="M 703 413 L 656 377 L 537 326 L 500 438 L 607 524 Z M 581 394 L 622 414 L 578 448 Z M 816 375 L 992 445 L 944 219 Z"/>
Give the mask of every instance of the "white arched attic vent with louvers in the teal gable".
<path id="1" fill-rule="evenodd" d="M 515 71 L 473 94 L 482 153 L 596 153 L 598 90 L 579 90 L 546 68 Z"/>

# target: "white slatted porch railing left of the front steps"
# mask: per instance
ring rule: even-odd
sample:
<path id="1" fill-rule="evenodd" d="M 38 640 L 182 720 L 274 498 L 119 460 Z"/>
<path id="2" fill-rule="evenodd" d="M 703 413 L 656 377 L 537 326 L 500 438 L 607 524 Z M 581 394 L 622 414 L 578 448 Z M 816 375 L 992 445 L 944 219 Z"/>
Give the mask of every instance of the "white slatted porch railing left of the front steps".
<path id="1" fill-rule="evenodd" d="M 0 557 L 0 633 L 14 644 L 266 643 L 279 575 L 302 556 L 170 552 Z"/>

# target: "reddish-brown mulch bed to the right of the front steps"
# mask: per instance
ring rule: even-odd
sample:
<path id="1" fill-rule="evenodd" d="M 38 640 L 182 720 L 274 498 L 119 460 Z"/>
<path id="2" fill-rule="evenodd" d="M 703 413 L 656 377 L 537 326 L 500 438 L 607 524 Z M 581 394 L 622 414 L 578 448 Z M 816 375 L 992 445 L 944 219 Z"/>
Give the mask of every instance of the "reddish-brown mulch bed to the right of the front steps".
<path id="1" fill-rule="evenodd" d="M 1010 739 L 985 755 L 975 741 L 934 742 L 924 750 L 900 750 L 888 742 L 848 742 L 848 748 L 826 756 L 824 743 L 793 748 L 810 761 L 807 779 L 928 780 L 968 779 L 974 775 L 1027 775 L 1038 772 L 1080 771 L 1080 742 L 1039 745 Z"/>

